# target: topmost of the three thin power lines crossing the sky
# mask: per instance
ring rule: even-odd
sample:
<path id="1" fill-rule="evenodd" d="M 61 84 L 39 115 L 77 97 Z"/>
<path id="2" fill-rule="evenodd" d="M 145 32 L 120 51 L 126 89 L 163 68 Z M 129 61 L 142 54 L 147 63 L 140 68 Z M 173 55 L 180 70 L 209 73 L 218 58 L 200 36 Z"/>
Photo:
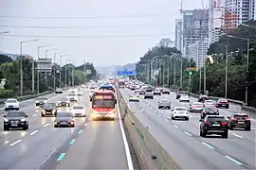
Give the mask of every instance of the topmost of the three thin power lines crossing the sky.
<path id="1" fill-rule="evenodd" d="M 16 16 L 16 15 L 0 15 L 0 18 L 14 18 L 14 19 L 114 19 L 114 18 L 144 18 L 156 17 L 170 14 L 170 12 L 162 13 L 145 13 L 145 14 L 128 14 L 128 15 L 106 15 L 106 16 Z"/>

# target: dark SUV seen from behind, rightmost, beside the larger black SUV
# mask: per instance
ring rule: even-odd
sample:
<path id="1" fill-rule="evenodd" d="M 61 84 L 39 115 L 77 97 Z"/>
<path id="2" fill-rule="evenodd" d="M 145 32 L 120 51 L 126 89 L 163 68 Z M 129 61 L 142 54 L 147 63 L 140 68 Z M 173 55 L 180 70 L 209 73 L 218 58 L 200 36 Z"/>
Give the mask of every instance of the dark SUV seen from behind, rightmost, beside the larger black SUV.
<path id="1" fill-rule="evenodd" d="M 234 127 L 245 128 L 245 130 L 250 131 L 250 118 L 246 113 L 232 113 L 228 117 L 229 129 Z"/>

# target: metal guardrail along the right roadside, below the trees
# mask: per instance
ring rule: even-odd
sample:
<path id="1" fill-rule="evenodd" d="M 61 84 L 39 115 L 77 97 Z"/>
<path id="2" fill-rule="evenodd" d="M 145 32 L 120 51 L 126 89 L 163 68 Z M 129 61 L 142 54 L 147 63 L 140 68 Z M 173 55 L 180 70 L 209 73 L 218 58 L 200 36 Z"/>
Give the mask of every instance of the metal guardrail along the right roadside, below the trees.
<path id="1" fill-rule="evenodd" d="M 174 90 L 174 89 L 170 89 L 170 91 L 171 92 L 177 92 L 177 90 Z M 193 96 L 193 97 L 199 98 L 199 94 L 190 93 L 190 95 Z M 211 100 L 218 100 L 219 98 L 223 98 L 223 97 L 209 96 L 209 98 Z M 246 106 L 243 101 L 233 100 L 233 99 L 229 99 L 229 98 L 227 98 L 227 100 L 230 103 L 233 103 L 233 104 L 236 104 L 236 105 L 240 105 L 242 110 L 249 110 L 249 111 L 252 111 L 252 112 L 256 112 L 256 108 Z"/>

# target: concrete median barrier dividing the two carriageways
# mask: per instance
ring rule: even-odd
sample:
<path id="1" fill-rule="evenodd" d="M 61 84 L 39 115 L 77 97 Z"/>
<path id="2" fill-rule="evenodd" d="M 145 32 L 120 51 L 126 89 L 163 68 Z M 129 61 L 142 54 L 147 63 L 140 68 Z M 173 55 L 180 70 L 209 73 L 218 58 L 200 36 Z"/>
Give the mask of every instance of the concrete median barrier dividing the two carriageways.
<path id="1" fill-rule="evenodd" d="M 148 127 L 144 127 L 117 88 L 119 111 L 127 135 L 134 146 L 141 169 L 181 169 L 165 149 L 156 142 Z"/>

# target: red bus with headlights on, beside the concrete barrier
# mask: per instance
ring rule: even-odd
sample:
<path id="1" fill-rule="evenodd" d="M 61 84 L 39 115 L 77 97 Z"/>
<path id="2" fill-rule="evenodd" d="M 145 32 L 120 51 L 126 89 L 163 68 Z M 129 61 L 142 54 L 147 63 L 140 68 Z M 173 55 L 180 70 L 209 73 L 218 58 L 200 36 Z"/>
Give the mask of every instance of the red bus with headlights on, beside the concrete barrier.
<path id="1" fill-rule="evenodd" d="M 113 91 L 96 91 L 91 97 L 92 119 L 115 120 L 115 107 L 117 104 L 116 95 Z"/>

